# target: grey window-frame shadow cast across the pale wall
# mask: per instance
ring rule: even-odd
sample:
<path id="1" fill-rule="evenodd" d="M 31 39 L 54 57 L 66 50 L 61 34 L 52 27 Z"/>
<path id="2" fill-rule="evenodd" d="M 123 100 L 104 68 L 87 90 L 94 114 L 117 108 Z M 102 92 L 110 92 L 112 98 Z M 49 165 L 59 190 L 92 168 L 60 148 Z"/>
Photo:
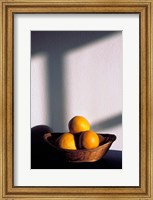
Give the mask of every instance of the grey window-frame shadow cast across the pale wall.
<path id="1" fill-rule="evenodd" d="M 57 124 L 59 130 L 65 129 L 65 94 L 63 55 L 78 47 L 103 40 L 117 34 L 117 31 L 32 31 L 31 56 L 39 53 L 48 55 L 47 90 L 49 92 L 48 112 L 52 124 Z M 107 127 L 110 124 L 121 123 L 121 116 L 98 122 L 92 127 Z M 51 124 L 51 126 L 52 126 Z M 53 130 L 54 131 L 54 130 Z"/>

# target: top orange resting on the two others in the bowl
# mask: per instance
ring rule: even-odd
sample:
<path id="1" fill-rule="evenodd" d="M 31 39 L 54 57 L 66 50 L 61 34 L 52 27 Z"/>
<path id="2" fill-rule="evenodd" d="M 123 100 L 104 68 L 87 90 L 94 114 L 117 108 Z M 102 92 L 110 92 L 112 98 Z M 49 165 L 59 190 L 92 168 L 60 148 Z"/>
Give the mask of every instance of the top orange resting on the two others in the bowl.
<path id="1" fill-rule="evenodd" d="M 82 116 L 75 116 L 69 121 L 69 130 L 71 133 L 80 133 L 90 130 L 90 124 Z"/>

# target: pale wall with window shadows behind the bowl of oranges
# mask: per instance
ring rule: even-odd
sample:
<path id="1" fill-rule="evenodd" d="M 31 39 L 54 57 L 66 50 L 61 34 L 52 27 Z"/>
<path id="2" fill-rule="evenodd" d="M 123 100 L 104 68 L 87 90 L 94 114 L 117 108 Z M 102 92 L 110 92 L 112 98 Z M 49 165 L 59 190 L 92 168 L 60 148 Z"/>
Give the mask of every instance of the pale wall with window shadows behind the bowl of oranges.
<path id="1" fill-rule="evenodd" d="M 122 150 L 122 32 L 32 32 L 31 54 L 31 127 L 83 115 Z"/>

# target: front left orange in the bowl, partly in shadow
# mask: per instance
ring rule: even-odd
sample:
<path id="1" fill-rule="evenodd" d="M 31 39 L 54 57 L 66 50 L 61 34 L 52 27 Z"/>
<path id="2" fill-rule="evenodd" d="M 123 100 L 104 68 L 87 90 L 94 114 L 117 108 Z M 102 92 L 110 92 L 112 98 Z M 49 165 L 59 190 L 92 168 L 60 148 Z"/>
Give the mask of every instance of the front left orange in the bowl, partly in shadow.
<path id="1" fill-rule="evenodd" d="M 72 133 L 63 133 L 58 139 L 58 146 L 61 149 L 76 150 L 74 135 Z"/>

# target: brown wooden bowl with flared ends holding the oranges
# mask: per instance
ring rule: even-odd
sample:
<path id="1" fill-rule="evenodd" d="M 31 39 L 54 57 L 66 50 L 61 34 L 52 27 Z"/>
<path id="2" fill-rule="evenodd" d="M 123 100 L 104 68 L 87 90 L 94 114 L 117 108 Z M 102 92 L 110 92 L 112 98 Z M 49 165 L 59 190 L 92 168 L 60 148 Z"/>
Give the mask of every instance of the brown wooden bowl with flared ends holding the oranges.
<path id="1" fill-rule="evenodd" d="M 68 162 L 95 162 L 101 159 L 109 150 L 112 143 L 116 140 L 116 136 L 113 134 L 98 134 L 100 144 L 94 149 L 77 149 L 67 150 L 61 149 L 56 145 L 56 140 L 63 133 L 46 133 L 44 134 L 44 140 L 54 149 L 56 149 L 65 160 Z M 104 137 L 104 140 L 102 138 Z"/>

